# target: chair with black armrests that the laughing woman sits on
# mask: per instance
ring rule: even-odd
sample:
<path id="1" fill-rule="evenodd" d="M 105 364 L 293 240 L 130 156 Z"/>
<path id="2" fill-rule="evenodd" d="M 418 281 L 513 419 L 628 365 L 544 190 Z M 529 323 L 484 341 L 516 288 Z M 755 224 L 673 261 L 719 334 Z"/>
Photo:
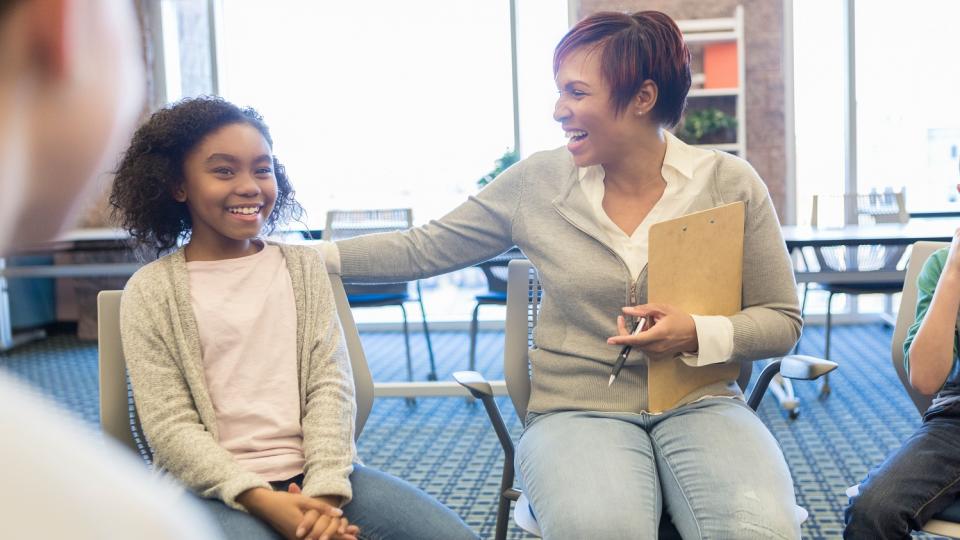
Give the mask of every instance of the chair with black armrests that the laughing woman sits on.
<path id="1" fill-rule="evenodd" d="M 506 335 L 503 350 L 503 375 L 507 385 L 507 392 L 513 402 L 514 410 L 523 423 L 527 414 L 527 402 L 530 398 L 530 364 L 528 352 L 533 343 L 533 331 L 539 316 L 540 299 L 544 294 L 536 269 L 526 259 L 510 261 L 507 277 L 507 320 Z M 744 362 L 740 370 L 738 383 L 746 388 L 750 381 L 752 370 L 750 362 Z M 760 405 L 760 400 L 766 393 L 767 386 L 773 376 L 779 373 L 788 379 L 814 380 L 836 369 L 837 364 L 828 360 L 809 356 L 786 356 L 773 360 L 760 373 L 757 384 L 750 393 L 747 403 L 754 410 Z M 510 439 L 510 432 L 500 415 L 500 410 L 493 399 L 493 389 L 482 375 L 475 371 L 458 371 L 453 374 L 458 383 L 463 385 L 470 394 L 479 399 L 487 411 L 493 429 L 503 447 L 503 473 L 500 481 L 499 501 L 497 505 L 496 540 L 503 540 L 507 535 L 507 526 L 510 517 L 510 503 L 516 502 L 514 519 L 517 525 L 537 536 L 540 529 L 530 510 L 526 496 L 514 488 L 514 446 Z M 807 517 L 806 510 L 797 507 L 797 518 L 803 522 Z M 669 518 L 664 515 L 660 523 L 660 537 L 678 537 L 676 529 Z"/>

